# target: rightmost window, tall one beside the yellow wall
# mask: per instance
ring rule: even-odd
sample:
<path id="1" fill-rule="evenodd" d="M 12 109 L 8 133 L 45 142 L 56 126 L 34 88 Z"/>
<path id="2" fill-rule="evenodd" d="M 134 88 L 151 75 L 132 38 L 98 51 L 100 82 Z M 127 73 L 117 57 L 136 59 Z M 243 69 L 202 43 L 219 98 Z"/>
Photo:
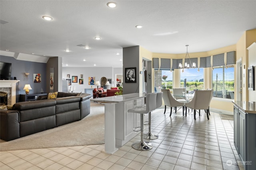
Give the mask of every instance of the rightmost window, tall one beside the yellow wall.
<path id="1" fill-rule="evenodd" d="M 219 66 L 212 70 L 213 97 L 234 99 L 234 66 Z"/>

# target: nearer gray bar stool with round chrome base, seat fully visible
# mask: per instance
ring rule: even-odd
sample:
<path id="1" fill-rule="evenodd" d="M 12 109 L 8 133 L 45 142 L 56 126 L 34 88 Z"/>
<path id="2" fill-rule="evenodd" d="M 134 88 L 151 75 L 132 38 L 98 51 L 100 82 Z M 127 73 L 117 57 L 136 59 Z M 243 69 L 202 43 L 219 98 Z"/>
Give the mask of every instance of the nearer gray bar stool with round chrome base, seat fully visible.
<path id="1" fill-rule="evenodd" d="M 140 141 L 134 142 L 132 147 L 136 150 L 150 150 L 153 148 L 152 143 L 144 141 L 144 114 L 156 109 L 156 93 L 148 93 L 146 96 L 146 106 L 138 106 L 128 109 L 129 113 L 140 113 Z"/>

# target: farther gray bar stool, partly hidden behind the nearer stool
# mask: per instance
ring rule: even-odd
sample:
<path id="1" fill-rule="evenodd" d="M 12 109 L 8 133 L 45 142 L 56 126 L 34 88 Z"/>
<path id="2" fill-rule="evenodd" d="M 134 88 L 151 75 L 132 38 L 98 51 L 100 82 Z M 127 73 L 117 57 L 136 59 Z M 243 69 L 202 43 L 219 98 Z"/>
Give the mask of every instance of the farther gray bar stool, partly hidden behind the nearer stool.
<path id="1" fill-rule="evenodd" d="M 159 92 L 156 94 L 156 108 L 162 106 L 162 97 L 163 97 L 163 92 Z M 154 135 L 151 133 L 151 111 L 148 113 L 148 133 L 144 133 L 143 135 L 144 139 L 158 139 L 158 135 Z"/>

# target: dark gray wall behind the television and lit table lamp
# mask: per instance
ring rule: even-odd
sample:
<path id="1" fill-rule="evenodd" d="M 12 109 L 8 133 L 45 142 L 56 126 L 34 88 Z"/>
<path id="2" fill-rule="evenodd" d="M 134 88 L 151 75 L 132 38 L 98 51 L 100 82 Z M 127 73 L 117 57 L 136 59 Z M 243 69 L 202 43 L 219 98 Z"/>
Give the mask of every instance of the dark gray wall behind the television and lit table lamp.
<path id="1" fill-rule="evenodd" d="M 46 92 L 46 63 L 37 63 L 31 61 L 16 60 L 14 57 L 0 56 L 1 62 L 12 63 L 12 74 L 11 79 L 14 77 L 20 82 L 17 83 L 18 88 L 16 89 L 16 102 L 19 101 L 19 95 L 25 94 L 23 90 L 25 84 L 30 84 L 32 90 L 30 93 L 40 93 L 41 88 Z M 25 77 L 25 72 L 30 73 L 28 79 Z M 42 75 L 41 83 L 34 83 L 33 74 L 40 73 Z"/>

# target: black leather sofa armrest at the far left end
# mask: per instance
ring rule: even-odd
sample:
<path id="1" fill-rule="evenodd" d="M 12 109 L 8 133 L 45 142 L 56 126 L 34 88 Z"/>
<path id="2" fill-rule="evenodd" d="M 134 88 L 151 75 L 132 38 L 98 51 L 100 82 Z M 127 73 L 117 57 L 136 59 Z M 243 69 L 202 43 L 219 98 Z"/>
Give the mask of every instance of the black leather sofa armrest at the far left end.
<path id="1" fill-rule="evenodd" d="M 0 133 L 4 141 L 20 137 L 20 115 L 17 110 L 0 109 Z"/>

